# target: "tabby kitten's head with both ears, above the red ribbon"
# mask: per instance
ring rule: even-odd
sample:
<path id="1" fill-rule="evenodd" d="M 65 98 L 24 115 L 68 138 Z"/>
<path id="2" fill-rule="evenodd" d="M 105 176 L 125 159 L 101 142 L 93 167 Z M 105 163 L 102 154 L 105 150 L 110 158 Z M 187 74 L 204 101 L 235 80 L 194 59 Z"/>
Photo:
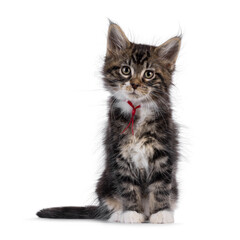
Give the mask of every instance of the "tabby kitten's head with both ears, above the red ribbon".
<path id="1" fill-rule="evenodd" d="M 103 67 L 104 86 L 120 100 L 156 101 L 167 95 L 181 37 L 160 46 L 130 42 L 122 29 L 110 22 Z"/>

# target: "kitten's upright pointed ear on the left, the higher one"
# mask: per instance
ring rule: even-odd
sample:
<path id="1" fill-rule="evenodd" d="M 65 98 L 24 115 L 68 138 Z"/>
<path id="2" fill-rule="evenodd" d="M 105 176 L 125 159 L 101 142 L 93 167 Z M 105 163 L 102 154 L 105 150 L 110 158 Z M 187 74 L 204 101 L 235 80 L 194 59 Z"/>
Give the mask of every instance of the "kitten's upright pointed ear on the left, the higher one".
<path id="1" fill-rule="evenodd" d="M 107 55 L 118 54 L 130 46 L 123 30 L 115 23 L 110 21 L 107 38 Z"/>

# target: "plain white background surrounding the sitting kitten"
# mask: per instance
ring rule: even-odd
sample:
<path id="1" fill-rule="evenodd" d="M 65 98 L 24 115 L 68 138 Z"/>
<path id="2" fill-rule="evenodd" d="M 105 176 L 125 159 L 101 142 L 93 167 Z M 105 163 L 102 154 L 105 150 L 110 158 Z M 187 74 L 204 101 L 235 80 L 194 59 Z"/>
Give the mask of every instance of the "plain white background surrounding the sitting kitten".
<path id="1" fill-rule="evenodd" d="M 174 225 L 35 216 L 94 203 L 107 18 L 138 43 L 183 33 L 172 91 L 182 126 Z M 239 239 L 239 22 L 230 0 L 1 1 L 1 239 Z"/>

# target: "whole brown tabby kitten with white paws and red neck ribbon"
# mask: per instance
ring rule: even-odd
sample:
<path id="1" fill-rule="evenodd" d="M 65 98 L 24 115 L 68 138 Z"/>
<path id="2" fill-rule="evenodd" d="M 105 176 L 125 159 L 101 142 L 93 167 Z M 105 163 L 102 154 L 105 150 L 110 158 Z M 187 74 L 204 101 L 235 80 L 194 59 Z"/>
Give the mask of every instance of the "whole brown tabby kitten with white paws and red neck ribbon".
<path id="1" fill-rule="evenodd" d="M 109 99 L 99 206 L 43 209 L 42 218 L 172 223 L 178 197 L 178 131 L 169 90 L 181 37 L 160 46 L 130 42 L 110 23 L 103 67 Z"/>

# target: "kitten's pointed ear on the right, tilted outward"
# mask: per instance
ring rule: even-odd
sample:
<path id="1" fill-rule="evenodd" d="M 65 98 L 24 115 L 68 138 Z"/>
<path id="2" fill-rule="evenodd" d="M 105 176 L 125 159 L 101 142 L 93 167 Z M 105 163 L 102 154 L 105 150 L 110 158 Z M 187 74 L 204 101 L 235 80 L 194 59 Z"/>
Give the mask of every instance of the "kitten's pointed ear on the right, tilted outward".
<path id="1" fill-rule="evenodd" d="M 166 62 L 166 66 L 170 71 L 174 70 L 180 46 L 181 37 L 173 37 L 156 48 L 158 56 Z"/>

